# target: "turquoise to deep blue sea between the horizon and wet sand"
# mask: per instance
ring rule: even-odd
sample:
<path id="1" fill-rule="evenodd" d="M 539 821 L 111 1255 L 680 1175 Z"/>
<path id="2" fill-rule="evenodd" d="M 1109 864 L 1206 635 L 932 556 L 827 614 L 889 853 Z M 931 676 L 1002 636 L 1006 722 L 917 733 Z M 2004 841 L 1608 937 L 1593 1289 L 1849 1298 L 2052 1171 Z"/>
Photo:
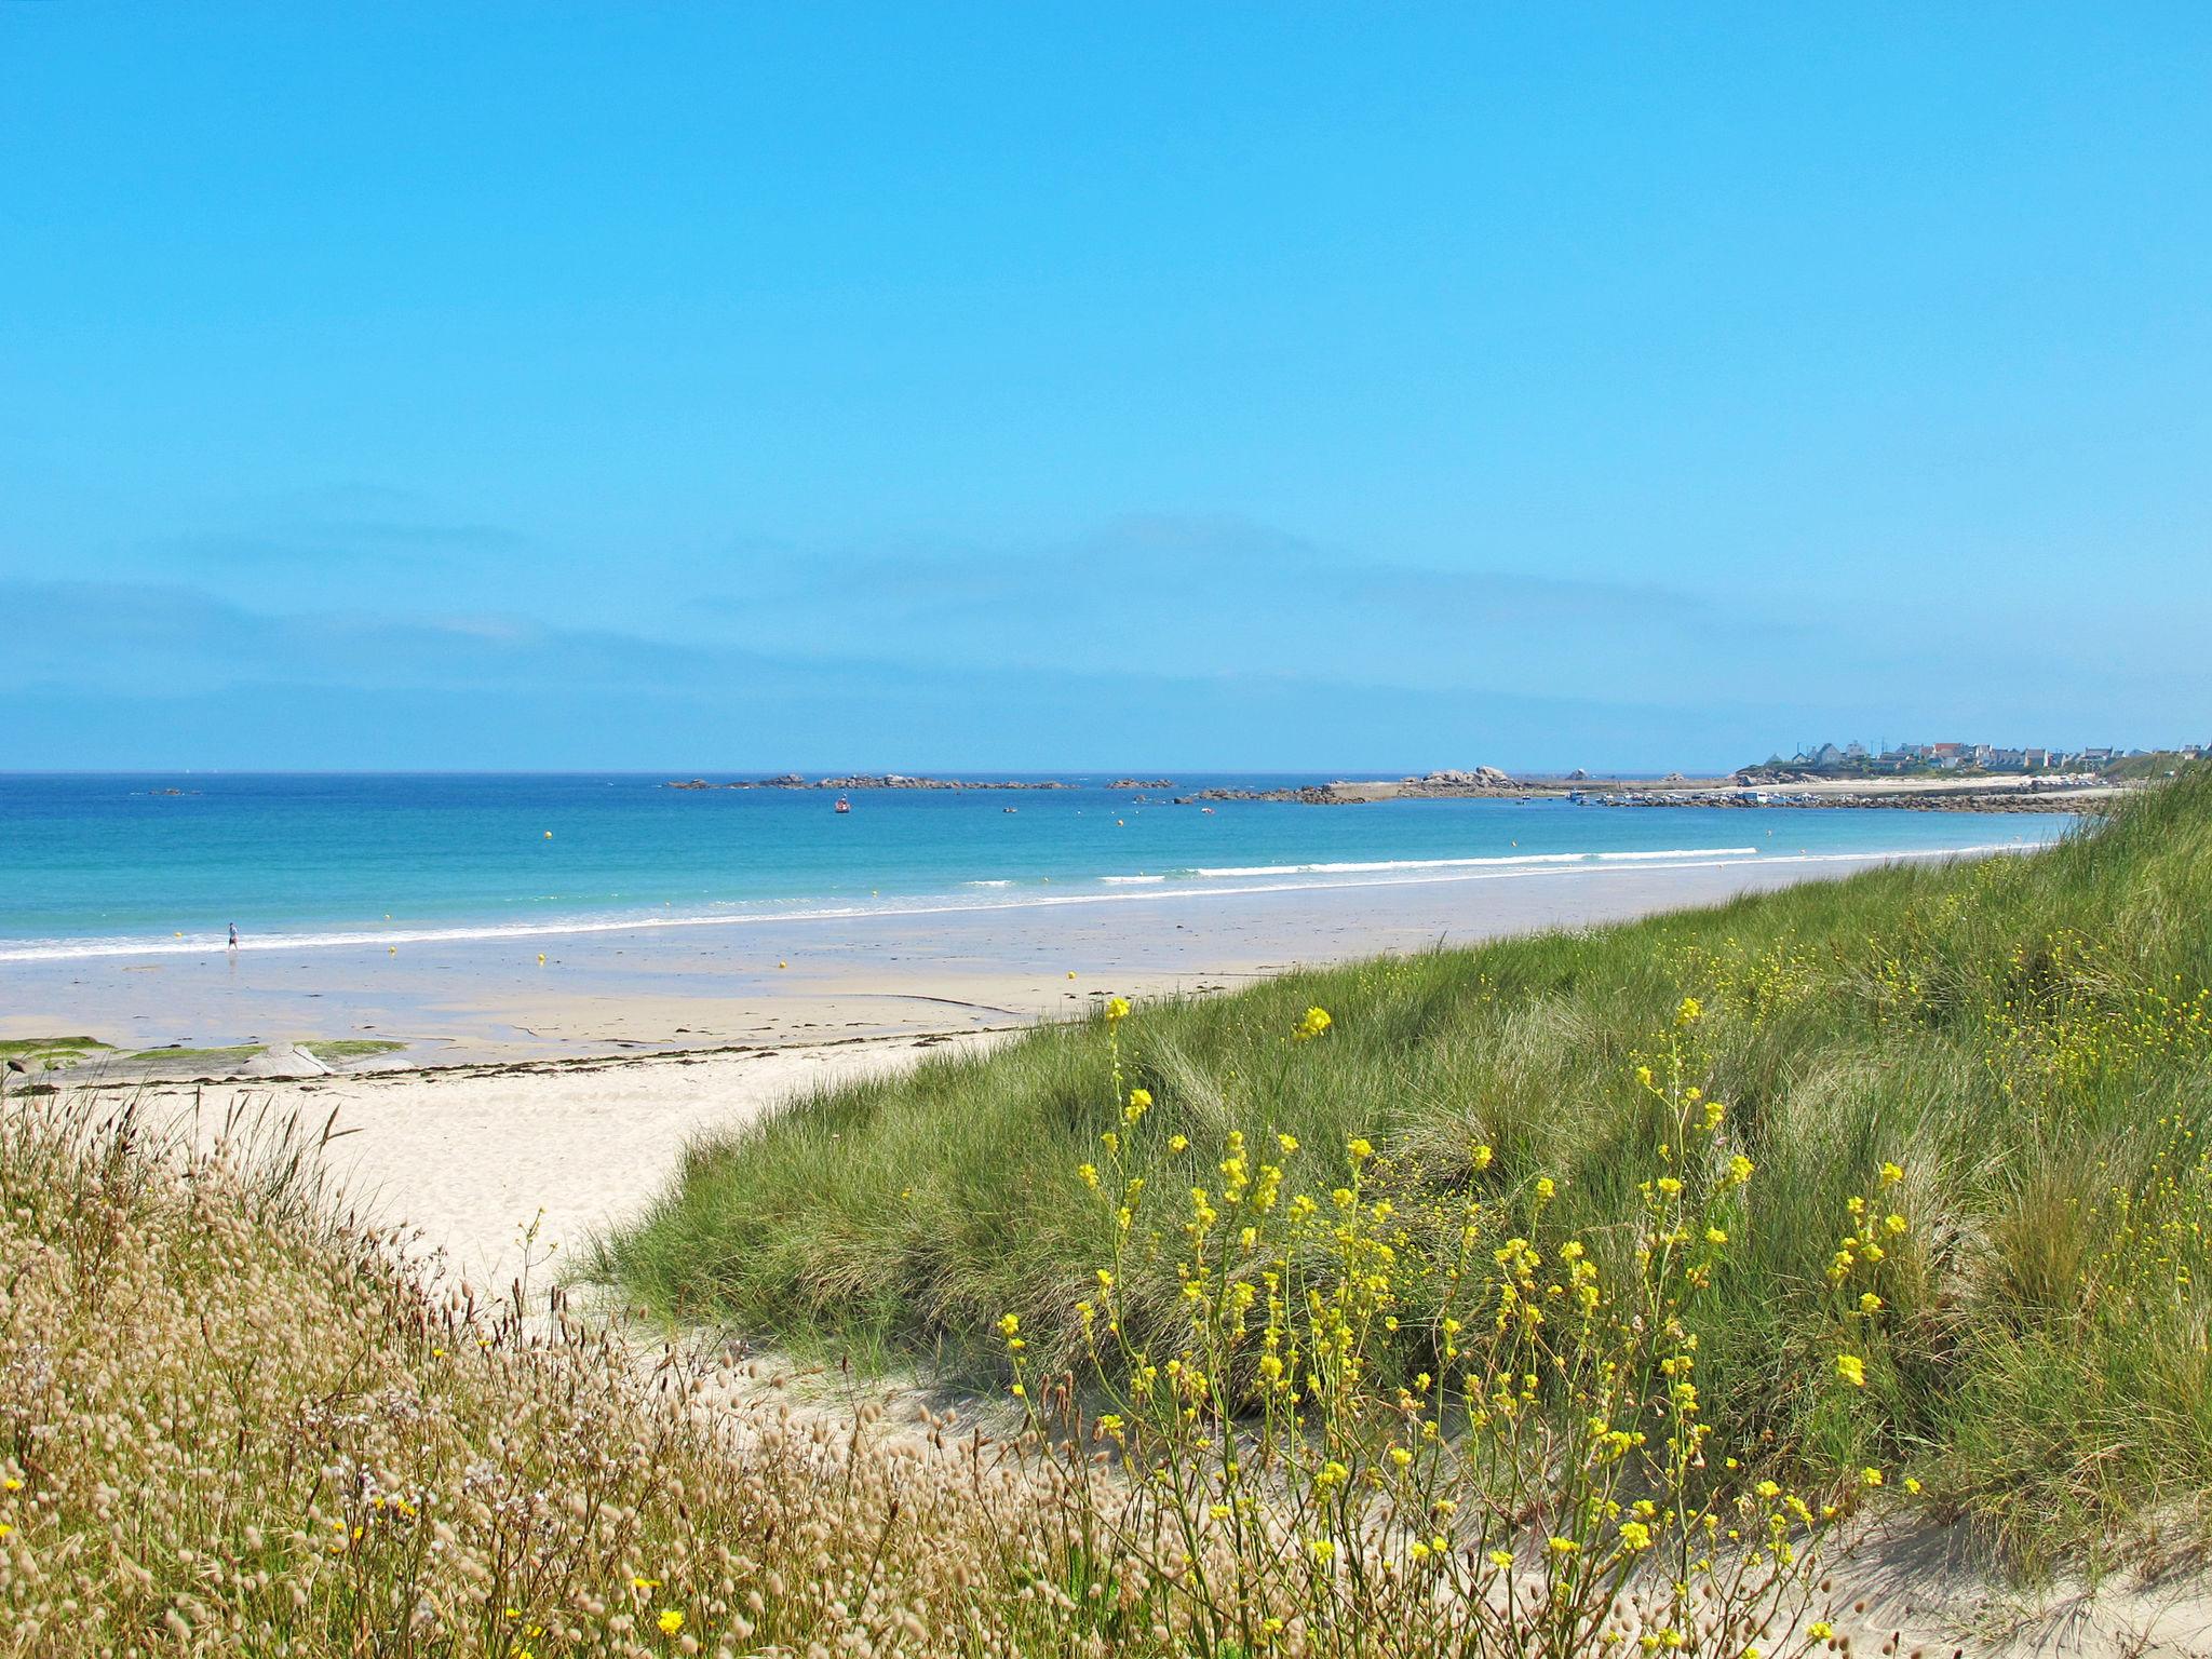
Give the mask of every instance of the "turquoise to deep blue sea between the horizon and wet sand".
<path id="1" fill-rule="evenodd" d="M 1177 790 L 1310 779 L 1179 776 Z M 1104 781 L 1099 781 L 1104 783 Z M 852 796 L 659 776 L 0 776 L 0 962 L 748 916 L 1110 902 L 1551 869 L 2031 845 L 2068 818 L 1413 801 L 1214 803 L 1099 783 Z M 181 794 L 168 794 L 181 790 Z M 1015 807 L 1006 812 L 1004 807 Z"/>

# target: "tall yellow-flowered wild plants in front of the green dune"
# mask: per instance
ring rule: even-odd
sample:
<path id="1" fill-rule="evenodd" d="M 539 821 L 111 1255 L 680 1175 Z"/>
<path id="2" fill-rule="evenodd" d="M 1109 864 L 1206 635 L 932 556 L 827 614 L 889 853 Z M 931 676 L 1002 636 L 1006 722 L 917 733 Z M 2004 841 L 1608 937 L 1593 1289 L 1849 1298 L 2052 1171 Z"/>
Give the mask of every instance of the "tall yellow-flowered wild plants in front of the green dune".
<path id="1" fill-rule="evenodd" d="M 1431 1188 L 1418 1210 L 1378 1197 L 1394 1181 L 1367 1139 L 1345 1148 L 1345 1183 L 1316 1194 L 1285 1172 L 1292 1135 L 1228 1130 L 1203 1152 L 1179 1130 L 1148 1135 L 1155 1097 L 1121 1082 L 1124 1011 L 1104 1015 L 1121 1126 L 1077 1170 L 1115 1239 L 1075 1305 L 1082 1363 L 1053 1376 L 1018 1314 L 998 1329 L 1035 1438 L 1113 1458 L 1095 1478 L 1066 1458 L 1093 1551 L 1175 1582 L 1201 1650 L 1741 1659 L 1829 1637 L 1809 1548 L 1885 1478 L 1860 1469 L 1807 1502 L 1765 1473 L 1770 1451 L 1705 1416 L 1688 1314 L 1730 1272 L 1756 1170 L 1728 1108 L 1688 1082 L 1697 1002 L 1677 1011 L 1661 1071 L 1637 1077 L 1670 1126 L 1637 1181 L 1637 1225 L 1551 1254 L 1480 1183 Z M 1312 1006 L 1290 1042 L 1332 1029 Z M 1493 1159 L 1478 1144 L 1464 1168 Z M 1882 1186 L 1898 1179 L 1885 1166 Z M 1555 1197 L 1537 1177 L 1526 1210 Z M 1829 1272 L 1854 1298 L 1832 1321 L 1840 1411 L 1878 1347 L 1867 1281 L 1909 1234 L 1865 1199 L 1849 1214 Z M 1175 1305 L 1133 1301 L 1164 1270 Z M 1389 1367 L 1398 1338 L 1420 1371 Z"/>

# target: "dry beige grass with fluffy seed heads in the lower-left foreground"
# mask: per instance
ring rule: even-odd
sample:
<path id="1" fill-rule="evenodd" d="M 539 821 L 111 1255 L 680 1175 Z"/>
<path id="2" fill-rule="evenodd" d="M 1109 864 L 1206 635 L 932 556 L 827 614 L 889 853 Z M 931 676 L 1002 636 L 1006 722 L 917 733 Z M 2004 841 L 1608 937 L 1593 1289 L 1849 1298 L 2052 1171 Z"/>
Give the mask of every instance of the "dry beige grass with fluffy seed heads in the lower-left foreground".
<path id="1" fill-rule="evenodd" d="M 0 1652 L 1064 1650 L 1048 1475 L 434 1296 L 316 1148 L 0 1124 Z M 1040 1484 L 1042 1482 L 1042 1484 Z"/>

